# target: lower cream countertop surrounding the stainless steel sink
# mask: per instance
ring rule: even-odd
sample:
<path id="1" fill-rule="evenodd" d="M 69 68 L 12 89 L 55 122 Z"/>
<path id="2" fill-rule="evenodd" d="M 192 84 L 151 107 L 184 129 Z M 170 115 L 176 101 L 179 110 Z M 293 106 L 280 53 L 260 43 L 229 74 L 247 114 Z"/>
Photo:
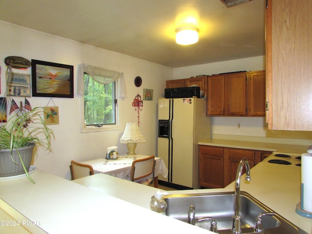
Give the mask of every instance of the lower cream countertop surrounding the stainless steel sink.
<path id="1" fill-rule="evenodd" d="M 293 224 L 312 234 L 312 219 L 296 214 L 295 209 L 300 202 L 301 170 L 297 166 L 285 166 L 267 162 L 268 159 L 258 163 L 251 169 L 251 181 L 246 181 L 244 176 L 241 179 L 241 191 L 245 191 L 254 196 L 257 200 L 274 210 L 279 215 L 284 216 Z M 88 176 L 75 180 L 74 182 L 84 186 L 89 186 L 98 190 L 102 194 L 113 195 L 122 200 L 129 201 L 138 206 L 149 209 L 150 191 L 149 186 L 133 184 L 126 187 L 129 181 L 119 181 L 120 179 L 106 175 Z M 120 186 L 113 187 L 114 184 Z M 130 184 L 129 184 L 130 186 Z M 197 189 L 166 191 L 168 194 L 198 194 L 215 192 L 233 192 L 235 183 L 231 183 L 223 189 Z M 154 189 L 154 188 L 153 188 Z M 126 194 L 124 191 L 127 190 Z M 136 199 L 136 191 L 142 191 L 140 199 Z M 143 193 L 144 191 L 144 193 Z M 143 196 L 143 194 L 145 196 Z"/>

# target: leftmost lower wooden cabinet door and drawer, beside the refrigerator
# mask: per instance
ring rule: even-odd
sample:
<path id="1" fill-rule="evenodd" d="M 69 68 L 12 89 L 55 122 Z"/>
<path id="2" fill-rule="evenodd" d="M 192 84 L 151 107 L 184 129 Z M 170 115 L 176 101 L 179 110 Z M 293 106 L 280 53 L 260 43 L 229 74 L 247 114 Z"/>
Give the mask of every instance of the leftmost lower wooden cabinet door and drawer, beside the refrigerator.
<path id="1" fill-rule="evenodd" d="M 199 146 L 199 185 L 223 188 L 223 148 Z"/>

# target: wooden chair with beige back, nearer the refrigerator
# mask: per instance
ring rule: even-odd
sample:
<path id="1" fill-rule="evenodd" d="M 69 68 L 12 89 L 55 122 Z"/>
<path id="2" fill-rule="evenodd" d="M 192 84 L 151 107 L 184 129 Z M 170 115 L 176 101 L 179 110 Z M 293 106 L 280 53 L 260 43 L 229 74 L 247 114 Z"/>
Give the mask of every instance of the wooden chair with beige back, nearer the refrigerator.
<path id="1" fill-rule="evenodd" d="M 146 181 L 143 182 L 140 179 L 152 175 L 153 176 L 152 180 L 150 180 L 147 184 L 153 181 L 155 187 L 154 170 L 155 170 L 155 156 L 136 159 L 132 162 L 130 179 L 134 182 L 140 182 L 142 184 L 145 184 L 144 182 Z"/>

